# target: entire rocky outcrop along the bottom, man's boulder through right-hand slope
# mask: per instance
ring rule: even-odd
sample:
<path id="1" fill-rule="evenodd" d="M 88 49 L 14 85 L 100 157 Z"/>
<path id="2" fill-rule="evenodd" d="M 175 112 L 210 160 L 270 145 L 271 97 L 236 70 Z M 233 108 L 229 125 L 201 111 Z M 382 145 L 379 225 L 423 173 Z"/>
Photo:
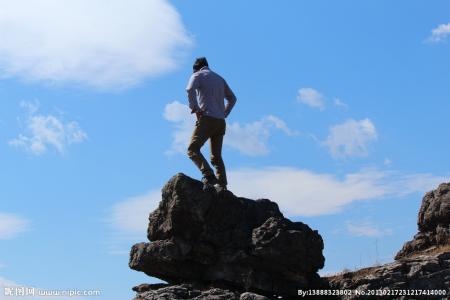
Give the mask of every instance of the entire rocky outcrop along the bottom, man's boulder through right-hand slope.
<path id="1" fill-rule="evenodd" d="M 319 233 L 284 218 L 267 199 L 205 192 L 201 182 L 178 174 L 164 186 L 149 221 L 151 242 L 132 247 L 129 266 L 168 283 L 134 287 L 135 300 L 299 299 L 299 289 L 450 293 L 450 183 L 425 195 L 419 232 L 394 262 L 326 278 L 317 275 L 324 265 Z M 353 293 L 341 299 L 380 297 Z M 448 296 L 391 294 L 382 299 Z"/>

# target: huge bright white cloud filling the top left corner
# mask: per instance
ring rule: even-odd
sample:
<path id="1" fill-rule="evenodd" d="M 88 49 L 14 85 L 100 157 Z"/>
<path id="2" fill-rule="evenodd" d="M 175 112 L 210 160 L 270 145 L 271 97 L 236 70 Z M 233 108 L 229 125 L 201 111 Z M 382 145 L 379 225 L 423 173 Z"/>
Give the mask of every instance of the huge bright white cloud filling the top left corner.
<path id="1" fill-rule="evenodd" d="M 192 44 L 167 0 L 0 1 L 0 74 L 123 88 L 173 70 Z"/>

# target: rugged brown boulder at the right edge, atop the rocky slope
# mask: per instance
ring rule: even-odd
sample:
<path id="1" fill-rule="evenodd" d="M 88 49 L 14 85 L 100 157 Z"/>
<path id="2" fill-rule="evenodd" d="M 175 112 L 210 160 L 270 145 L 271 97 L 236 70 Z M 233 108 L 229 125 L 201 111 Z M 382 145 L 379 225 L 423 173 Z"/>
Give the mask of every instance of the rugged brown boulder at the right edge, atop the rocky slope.
<path id="1" fill-rule="evenodd" d="M 450 183 L 443 183 L 425 195 L 417 225 L 419 232 L 403 245 L 395 259 L 450 245 Z"/>

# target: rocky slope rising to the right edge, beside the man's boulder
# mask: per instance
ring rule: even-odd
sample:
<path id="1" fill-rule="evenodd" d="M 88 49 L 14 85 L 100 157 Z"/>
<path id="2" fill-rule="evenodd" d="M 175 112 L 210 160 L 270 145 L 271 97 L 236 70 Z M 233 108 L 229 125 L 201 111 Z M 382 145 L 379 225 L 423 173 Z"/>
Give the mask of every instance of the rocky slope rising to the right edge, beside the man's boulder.
<path id="1" fill-rule="evenodd" d="M 332 289 L 444 291 L 444 295 L 390 295 L 389 299 L 448 299 L 450 294 L 450 184 L 425 195 L 418 217 L 419 233 L 405 243 L 396 261 L 327 278 Z M 379 299 L 357 297 L 342 299 Z"/>

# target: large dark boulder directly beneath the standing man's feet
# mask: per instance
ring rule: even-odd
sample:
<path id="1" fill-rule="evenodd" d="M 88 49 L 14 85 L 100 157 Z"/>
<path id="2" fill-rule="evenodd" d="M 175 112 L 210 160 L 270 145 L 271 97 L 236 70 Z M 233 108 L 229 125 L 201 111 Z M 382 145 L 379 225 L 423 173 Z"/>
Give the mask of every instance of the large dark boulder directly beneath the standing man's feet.
<path id="1" fill-rule="evenodd" d="M 294 296 L 322 284 L 321 236 L 284 218 L 270 200 L 204 192 L 201 182 L 178 174 L 164 186 L 149 221 L 151 242 L 132 247 L 129 266 L 170 284 L 270 296 Z"/>

